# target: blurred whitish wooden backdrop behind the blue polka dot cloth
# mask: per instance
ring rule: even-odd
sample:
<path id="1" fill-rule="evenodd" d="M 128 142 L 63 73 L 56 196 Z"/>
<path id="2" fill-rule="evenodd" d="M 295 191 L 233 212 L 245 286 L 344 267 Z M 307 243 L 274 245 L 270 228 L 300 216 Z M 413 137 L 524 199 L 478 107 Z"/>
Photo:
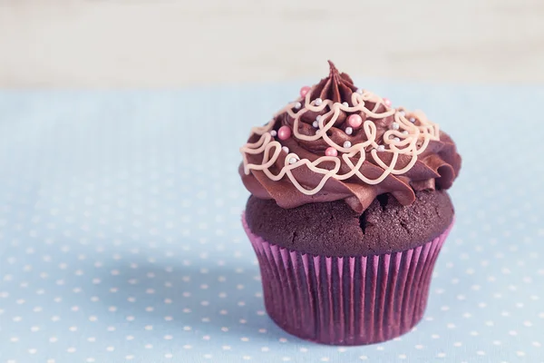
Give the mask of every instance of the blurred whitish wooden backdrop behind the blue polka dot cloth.
<path id="1" fill-rule="evenodd" d="M 544 0 L 0 0 L 1 87 L 544 82 Z"/>

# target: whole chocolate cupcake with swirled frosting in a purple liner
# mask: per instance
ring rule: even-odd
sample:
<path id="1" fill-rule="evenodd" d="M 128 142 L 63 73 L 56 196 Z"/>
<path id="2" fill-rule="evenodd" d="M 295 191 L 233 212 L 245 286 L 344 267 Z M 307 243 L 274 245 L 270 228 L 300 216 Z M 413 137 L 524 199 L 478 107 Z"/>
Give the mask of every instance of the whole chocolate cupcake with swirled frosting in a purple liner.
<path id="1" fill-rule="evenodd" d="M 424 113 L 330 74 L 251 130 L 242 224 L 267 313 L 299 338 L 392 339 L 422 318 L 461 157 Z"/>

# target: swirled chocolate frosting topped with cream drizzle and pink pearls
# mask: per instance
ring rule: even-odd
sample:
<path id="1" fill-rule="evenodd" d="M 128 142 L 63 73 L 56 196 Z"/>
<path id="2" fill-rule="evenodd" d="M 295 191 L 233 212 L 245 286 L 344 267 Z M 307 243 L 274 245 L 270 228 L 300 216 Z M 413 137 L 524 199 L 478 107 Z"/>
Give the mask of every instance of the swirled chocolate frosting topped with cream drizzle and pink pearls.
<path id="1" fill-rule="evenodd" d="M 251 130 L 239 167 L 248 191 L 283 208 L 344 200 L 363 212 L 383 193 L 408 205 L 414 191 L 450 188 L 461 168 L 452 139 L 329 64 L 328 77 Z"/>

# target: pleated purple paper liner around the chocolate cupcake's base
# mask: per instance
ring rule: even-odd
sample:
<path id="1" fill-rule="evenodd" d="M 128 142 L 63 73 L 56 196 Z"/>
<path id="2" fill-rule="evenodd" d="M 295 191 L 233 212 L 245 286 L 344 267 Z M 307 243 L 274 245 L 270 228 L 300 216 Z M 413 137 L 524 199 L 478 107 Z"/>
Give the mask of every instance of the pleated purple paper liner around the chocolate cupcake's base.
<path id="1" fill-rule="evenodd" d="M 278 247 L 244 229 L 257 253 L 267 313 L 298 338 L 364 345 L 413 328 L 452 224 L 422 246 L 372 256 L 326 257 Z"/>

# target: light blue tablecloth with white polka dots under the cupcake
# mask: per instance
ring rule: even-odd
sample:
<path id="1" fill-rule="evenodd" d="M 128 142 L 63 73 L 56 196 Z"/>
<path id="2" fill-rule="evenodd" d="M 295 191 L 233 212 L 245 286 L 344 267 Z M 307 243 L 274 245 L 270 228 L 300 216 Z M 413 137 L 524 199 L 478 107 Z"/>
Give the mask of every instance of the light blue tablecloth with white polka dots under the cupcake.
<path id="1" fill-rule="evenodd" d="M 328 347 L 267 317 L 238 147 L 301 83 L 3 92 L 0 363 L 544 362 L 544 88 L 358 84 L 463 156 L 412 332 Z"/>

